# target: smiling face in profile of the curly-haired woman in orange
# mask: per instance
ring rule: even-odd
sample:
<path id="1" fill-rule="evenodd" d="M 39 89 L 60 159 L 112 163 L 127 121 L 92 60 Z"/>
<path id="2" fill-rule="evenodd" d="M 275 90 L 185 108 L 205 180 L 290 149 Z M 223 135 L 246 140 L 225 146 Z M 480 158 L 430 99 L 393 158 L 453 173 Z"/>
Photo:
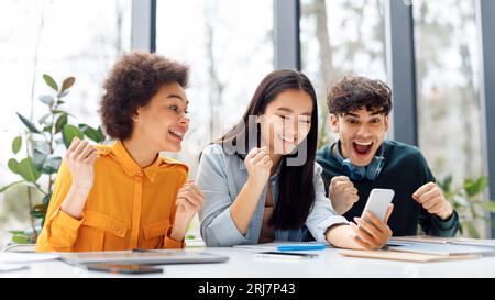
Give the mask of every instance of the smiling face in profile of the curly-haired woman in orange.
<path id="1" fill-rule="evenodd" d="M 160 87 L 145 107 L 133 116 L 132 136 L 140 136 L 148 147 L 161 152 L 178 152 L 189 130 L 188 101 L 184 88 L 177 84 Z"/>

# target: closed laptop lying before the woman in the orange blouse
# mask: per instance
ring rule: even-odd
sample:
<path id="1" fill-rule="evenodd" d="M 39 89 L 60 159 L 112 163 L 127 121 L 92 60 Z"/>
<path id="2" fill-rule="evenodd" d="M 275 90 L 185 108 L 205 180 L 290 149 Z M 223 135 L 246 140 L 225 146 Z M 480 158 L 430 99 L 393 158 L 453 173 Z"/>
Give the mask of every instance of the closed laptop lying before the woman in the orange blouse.
<path id="1" fill-rule="evenodd" d="M 229 257 L 207 252 L 185 249 L 136 249 L 64 253 L 59 257 L 68 264 L 209 264 L 224 263 Z"/>

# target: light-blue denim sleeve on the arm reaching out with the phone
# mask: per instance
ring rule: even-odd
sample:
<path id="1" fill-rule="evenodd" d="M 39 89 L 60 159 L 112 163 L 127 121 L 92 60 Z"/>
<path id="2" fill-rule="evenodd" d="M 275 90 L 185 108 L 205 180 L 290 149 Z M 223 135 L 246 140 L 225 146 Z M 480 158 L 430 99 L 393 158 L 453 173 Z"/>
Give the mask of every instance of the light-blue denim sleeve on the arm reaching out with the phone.
<path id="1" fill-rule="evenodd" d="M 322 168 L 315 163 L 314 185 L 315 185 L 315 204 L 306 220 L 306 226 L 311 235 L 319 243 L 328 243 L 324 233 L 337 224 L 349 224 L 344 216 L 338 215 L 332 208 L 330 199 L 324 196 L 324 186 L 321 178 Z"/>

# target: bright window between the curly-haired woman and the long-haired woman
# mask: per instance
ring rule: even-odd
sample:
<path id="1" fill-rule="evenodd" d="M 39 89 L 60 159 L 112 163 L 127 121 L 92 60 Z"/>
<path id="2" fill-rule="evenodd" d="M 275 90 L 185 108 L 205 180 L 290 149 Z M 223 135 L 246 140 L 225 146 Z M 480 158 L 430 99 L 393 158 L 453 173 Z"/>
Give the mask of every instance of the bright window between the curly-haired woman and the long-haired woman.
<path id="1" fill-rule="evenodd" d="M 241 119 L 274 68 L 273 7 L 268 0 L 157 2 L 156 52 L 190 66 L 191 125 L 178 157 L 191 177 L 202 147 Z"/>

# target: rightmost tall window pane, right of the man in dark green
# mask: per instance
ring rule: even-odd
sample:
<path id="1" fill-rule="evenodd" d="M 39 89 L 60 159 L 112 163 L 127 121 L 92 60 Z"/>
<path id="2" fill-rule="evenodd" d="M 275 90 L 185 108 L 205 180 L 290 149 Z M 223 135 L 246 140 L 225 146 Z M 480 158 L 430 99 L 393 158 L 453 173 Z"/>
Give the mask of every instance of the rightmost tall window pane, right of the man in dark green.
<path id="1" fill-rule="evenodd" d="M 475 5 L 457 0 L 413 3 L 419 146 L 439 178 L 452 175 L 460 182 L 481 176 Z"/>

